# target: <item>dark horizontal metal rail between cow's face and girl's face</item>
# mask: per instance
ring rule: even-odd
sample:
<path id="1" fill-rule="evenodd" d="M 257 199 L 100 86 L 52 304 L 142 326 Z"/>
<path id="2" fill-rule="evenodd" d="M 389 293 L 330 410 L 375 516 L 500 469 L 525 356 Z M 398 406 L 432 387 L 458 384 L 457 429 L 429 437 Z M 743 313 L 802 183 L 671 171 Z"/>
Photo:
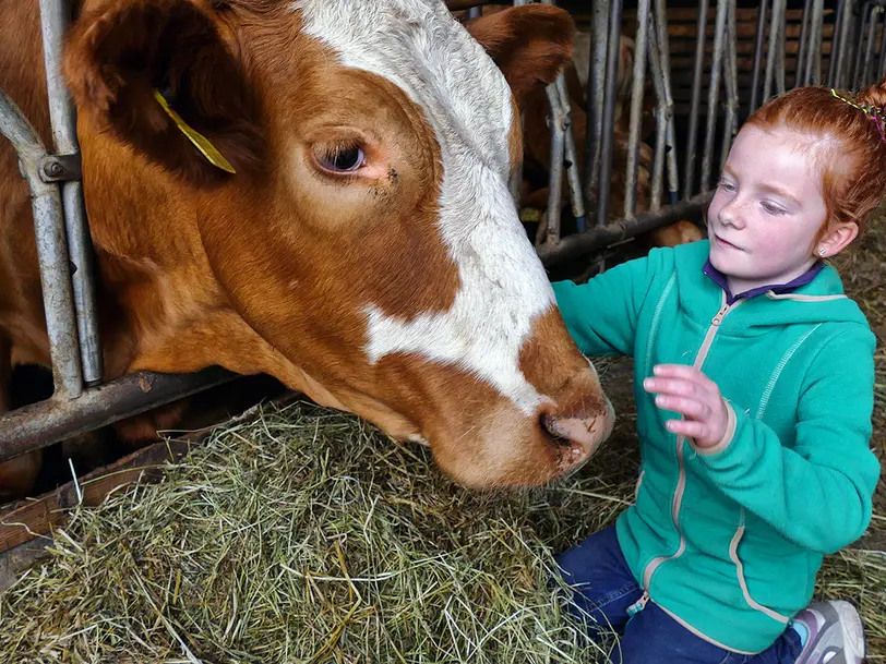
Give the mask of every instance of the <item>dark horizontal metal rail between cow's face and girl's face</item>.
<path id="1" fill-rule="evenodd" d="M 546 266 L 551 266 L 590 254 L 681 219 L 698 217 L 702 210 L 710 205 L 713 197 L 714 192 L 699 194 L 689 201 L 670 205 L 660 212 L 637 215 L 636 219 L 621 219 L 607 226 L 591 228 L 584 233 L 567 236 L 555 246 L 548 244 L 540 246 L 537 250 L 538 255 Z"/>

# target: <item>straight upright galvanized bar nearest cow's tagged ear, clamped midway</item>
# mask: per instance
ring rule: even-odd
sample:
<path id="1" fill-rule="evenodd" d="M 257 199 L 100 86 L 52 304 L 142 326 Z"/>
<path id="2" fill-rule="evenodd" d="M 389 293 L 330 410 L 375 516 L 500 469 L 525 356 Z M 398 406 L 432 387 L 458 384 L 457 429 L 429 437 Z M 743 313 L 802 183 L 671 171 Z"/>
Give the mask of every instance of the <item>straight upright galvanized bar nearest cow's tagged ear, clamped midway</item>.
<path id="1" fill-rule="evenodd" d="M 70 7 L 64 0 L 40 0 L 44 62 L 46 65 L 49 119 L 56 153 L 80 153 L 76 137 L 76 113 L 61 75 L 62 36 L 70 23 Z M 68 251 L 74 271 L 71 276 L 76 312 L 76 334 L 83 378 L 87 385 L 101 382 L 103 361 L 96 315 L 93 246 L 83 203 L 83 183 L 61 183 L 61 202 L 68 234 Z"/>

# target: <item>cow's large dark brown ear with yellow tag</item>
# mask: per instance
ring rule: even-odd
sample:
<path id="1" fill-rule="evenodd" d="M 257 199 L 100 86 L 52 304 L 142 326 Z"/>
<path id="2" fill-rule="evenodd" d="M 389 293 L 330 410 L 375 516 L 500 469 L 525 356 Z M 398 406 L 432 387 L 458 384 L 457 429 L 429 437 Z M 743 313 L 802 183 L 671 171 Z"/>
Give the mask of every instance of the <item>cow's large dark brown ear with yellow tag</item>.
<path id="1" fill-rule="evenodd" d="M 264 164 L 254 95 L 211 16 L 189 0 L 84 12 L 67 37 L 64 75 L 80 112 L 192 184 Z"/>

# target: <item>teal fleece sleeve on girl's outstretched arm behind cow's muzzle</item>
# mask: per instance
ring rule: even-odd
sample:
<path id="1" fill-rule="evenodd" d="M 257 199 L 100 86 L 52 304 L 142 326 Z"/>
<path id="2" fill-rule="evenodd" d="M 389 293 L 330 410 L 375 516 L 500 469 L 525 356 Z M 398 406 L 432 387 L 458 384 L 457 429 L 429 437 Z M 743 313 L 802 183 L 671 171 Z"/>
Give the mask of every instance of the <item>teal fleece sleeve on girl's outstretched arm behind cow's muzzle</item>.
<path id="1" fill-rule="evenodd" d="M 556 304 L 586 355 L 633 355 L 637 316 L 652 282 L 661 250 L 628 261 L 576 286 L 555 281 Z"/>

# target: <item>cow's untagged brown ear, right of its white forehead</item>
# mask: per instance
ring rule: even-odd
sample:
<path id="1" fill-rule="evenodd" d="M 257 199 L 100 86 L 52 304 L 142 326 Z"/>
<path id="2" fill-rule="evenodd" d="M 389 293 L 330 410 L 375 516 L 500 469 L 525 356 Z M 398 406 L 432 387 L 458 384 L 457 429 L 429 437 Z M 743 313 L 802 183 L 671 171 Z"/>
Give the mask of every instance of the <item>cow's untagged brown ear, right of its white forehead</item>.
<path id="1" fill-rule="evenodd" d="M 465 27 L 502 70 L 518 102 L 556 79 L 572 59 L 575 23 L 556 7 L 513 7 L 469 21 Z"/>

